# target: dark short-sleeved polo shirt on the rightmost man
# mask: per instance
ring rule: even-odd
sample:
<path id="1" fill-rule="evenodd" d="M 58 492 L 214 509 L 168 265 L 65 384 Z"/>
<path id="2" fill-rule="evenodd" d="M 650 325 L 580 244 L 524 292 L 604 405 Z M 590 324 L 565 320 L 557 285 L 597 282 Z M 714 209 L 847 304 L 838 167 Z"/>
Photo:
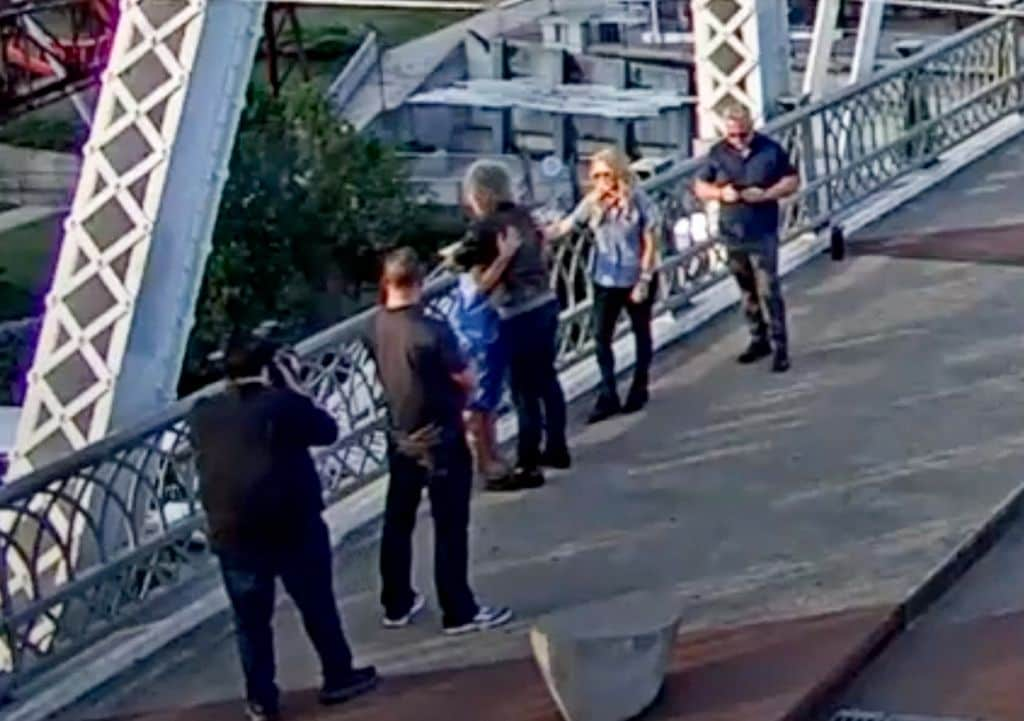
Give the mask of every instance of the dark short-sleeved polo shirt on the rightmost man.
<path id="1" fill-rule="evenodd" d="M 708 154 L 708 163 L 697 177 L 716 185 L 731 184 L 737 190 L 746 187 L 768 188 L 797 169 L 780 144 L 755 133 L 744 156 L 721 140 Z M 719 235 L 730 246 L 761 246 L 778 241 L 778 203 L 722 203 L 719 211 Z"/>

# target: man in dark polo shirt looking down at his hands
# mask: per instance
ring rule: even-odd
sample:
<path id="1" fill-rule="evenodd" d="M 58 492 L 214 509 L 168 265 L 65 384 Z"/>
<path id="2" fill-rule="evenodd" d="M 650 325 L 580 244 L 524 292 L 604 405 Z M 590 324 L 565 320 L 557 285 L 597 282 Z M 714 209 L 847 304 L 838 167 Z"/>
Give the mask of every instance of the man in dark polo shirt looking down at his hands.
<path id="1" fill-rule="evenodd" d="M 751 329 L 751 344 L 737 359 L 756 363 L 770 355 L 774 345 L 772 370 L 785 373 L 790 352 L 778 279 L 778 202 L 797 192 L 800 175 L 781 145 L 754 132 L 745 108 L 729 109 L 725 120 L 725 138 L 711 149 L 694 189 L 701 201 L 721 206 L 719 237 L 729 251 L 729 269 Z"/>

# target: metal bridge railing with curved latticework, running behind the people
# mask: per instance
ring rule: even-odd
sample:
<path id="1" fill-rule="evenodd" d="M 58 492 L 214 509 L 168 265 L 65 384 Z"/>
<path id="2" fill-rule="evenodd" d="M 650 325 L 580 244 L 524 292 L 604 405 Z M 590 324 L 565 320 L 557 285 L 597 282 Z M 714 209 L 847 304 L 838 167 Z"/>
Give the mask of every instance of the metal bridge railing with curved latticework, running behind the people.
<path id="1" fill-rule="evenodd" d="M 1017 25 L 992 18 L 767 131 L 798 161 L 803 187 L 785 205 L 783 238 L 817 229 L 906 173 L 1021 110 Z M 912 112 L 911 112 L 912 110 Z M 698 206 L 699 159 L 646 183 L 667 238 L 657 312 L 687 304 L 725 275 L 722 248 L 676 232 Z M 592 352 L 590 240 L 556 249 L 552 285 L 562 313 L 559 364 Z M 451 279 L 429 302 L 444 312 Z M 299 345 L 304 382 L 338 420 L 317 453 L 336 503 L 386 472 L 384 405 L 371 357 L 368 311 Z M 622 332 L 626 332 L 623 329 Z M 191 540 L 203 524 L 187 416 L 196 397 L 0 489 L 0 669 L 15 687 L 105 637 L 162 594 L 209 572 Z M 60 519 L 59 521 L 56 519 Z M 77 563 L 73 559 L 78 559 Z"/>

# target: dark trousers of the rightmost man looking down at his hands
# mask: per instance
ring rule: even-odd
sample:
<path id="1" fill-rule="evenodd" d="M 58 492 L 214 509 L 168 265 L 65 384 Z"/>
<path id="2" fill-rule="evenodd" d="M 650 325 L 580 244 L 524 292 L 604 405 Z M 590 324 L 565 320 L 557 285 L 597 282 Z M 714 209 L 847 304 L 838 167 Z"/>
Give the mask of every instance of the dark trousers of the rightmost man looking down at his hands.
<path id="1" fill-rule="evenodd" d="M 770 337 L 775 352 L 787 352 L 785 302 L 778 279 L 778 241 L 730 247 L 729 270 L 742 295 L 751 338 L 755 342 L 767 342 Z M 768 323 L 761 309 L 762 302 L 768 309 Z"/>

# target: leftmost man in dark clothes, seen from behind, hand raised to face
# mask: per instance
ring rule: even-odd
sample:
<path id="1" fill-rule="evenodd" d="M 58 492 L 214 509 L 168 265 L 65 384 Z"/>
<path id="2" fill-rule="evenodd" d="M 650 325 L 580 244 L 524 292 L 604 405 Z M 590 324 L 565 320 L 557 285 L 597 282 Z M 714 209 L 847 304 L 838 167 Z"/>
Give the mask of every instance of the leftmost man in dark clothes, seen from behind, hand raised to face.
<path id="1" fill-rule="evenodd" d="M 322 704 L 373 688 L 374 668 L 355 669 L 332 589 L 331 545 L 311 447 L 338 436 L 334 419 L 303 392 L 294 356 L 236 336 L 225 352 L 227 389 L 193 412 L 200 496 L 234 611 L 246 678 L 246 712 L 276 719 L 274 583 L 302 616 L 324 671 Z"/>

